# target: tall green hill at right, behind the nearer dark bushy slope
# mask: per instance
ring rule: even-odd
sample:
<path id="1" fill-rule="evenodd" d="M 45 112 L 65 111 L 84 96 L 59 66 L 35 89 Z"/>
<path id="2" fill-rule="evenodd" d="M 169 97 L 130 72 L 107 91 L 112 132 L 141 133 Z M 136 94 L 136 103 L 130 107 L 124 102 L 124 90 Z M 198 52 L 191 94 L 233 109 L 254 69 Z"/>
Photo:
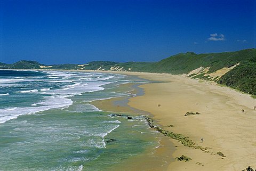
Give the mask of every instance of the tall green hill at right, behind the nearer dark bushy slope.
<path id="1" fill-rule="evenodd" d="M 255 56 L 255 49 L 237 52 L 195 54 L 193 52 L 179 53 L 163 59 L 150 68 L 151 72 L 166 72 L 171 74 L 188 74 L 199 67 L 210 67 L 208 73 L 224 67 L 231 67 L 238 62 L 245 61 Z"/>

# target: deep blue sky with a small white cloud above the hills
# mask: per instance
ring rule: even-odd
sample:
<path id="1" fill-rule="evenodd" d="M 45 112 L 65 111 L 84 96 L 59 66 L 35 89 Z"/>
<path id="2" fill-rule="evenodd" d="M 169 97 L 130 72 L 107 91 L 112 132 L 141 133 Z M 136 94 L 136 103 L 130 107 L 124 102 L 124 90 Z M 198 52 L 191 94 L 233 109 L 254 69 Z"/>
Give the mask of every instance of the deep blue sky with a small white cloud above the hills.
<path id="1" fill-rule="evenodd" d="M 0 62 L 159 61 L 255 47 L 255 1 L 0 1 Z"/>

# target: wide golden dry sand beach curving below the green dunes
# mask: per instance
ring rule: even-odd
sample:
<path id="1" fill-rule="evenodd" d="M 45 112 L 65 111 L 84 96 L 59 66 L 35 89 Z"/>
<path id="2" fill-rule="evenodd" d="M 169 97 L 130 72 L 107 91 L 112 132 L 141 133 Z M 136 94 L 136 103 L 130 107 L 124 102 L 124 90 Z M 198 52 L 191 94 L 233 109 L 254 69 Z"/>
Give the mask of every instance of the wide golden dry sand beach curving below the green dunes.
<path id="1" fill-rule="evenodd" d="M 209 148 L 190 148 L 170 138 L 175 145 L 172 157 L 183 154 L 192 160 L 171 162 L 167 170 L 242 170 L 249 165 L 256 168 L 256 99 L 186 76 L 118 73 L 162 82 L 141 85 L 145 95 L 131 98 L 128 104 L 150 112 L 155 125 L 162 129 L 188 136 L 196 145 Z M 185 116 L 186 112 L 200 115 Z"/>

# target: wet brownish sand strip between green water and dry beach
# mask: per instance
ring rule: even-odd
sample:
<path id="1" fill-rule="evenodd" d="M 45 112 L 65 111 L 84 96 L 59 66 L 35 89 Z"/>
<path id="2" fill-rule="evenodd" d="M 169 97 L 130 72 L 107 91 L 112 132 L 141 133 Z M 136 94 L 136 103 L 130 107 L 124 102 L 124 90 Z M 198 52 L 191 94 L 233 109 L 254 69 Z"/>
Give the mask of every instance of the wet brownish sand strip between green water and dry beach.
<path id="1" fill-rule="evenodd" d="M 141 96 L 142 94 L 139 93 L 138 85 L 141 85 L 141 83 L 125 83 L 119 85 L 119 88 L 127 90 L 127 87 L 130 87 L 131 91 L 127 92 Z M 133 97 L 113 97 L 111 99 L 95 100 L 90 102 L 90 104 L 103 111 L 124 113 L 131 117 L 153 117 L 149 112 L 138 110 L 127 105 L 127 102 L 129 102 L 129 99 L 131 98 Z M 148 129 L 150 129 L 150 127 L 148 127 Z M 152 129 L 152 131 L 154 131 L 154 129 Z M 158 141 L 159 143 L 157 146 L 154 148 L 148 147 L 143 153 L 138 154 L 138 156 L 125 159 L 125 161 L 117 164 L 114 168 L 111 168 L 111 170 L 120 170 L 121 168 L 122 170 L 129 171 L 166 170 L 170 162 L 175 160 L 170 153 L 174 151 L 174 145 L 170 141 L 169 137 L 162 136 L 157 132 L 155 133 L 157 134 L 157 136 L 155 136 L 155 141 Z"/>

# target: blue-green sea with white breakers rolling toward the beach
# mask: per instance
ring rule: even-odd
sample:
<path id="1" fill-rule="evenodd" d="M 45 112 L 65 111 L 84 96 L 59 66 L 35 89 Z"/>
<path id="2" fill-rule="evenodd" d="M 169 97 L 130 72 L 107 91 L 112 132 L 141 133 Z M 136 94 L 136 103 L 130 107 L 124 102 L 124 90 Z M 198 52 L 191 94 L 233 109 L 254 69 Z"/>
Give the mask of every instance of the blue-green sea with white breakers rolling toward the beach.
<path id="1" fill-rule="evenodd" d="M 117 96 L 117 74 L 0 70 L 0 170 L 111 170 L 158 145 L 145 118 L 89 102 Z M 114 139 L 111 141 L 110 139 Z"/>

